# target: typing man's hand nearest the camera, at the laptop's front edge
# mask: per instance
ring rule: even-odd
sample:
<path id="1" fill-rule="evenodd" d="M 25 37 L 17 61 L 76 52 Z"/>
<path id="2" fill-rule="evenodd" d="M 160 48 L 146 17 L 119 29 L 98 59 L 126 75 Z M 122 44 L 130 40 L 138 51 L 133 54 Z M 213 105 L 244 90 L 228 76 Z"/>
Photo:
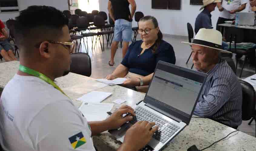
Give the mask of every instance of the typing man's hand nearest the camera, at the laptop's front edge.
<path id="1" fill-rule="evenodd" d="M 153 122 L 138 121 L 126 131 L 123 145 L 130 145 L 132 147 L 131 150 L 139 150 L 143 148 L 158 130 L 158 126 L 153 126 L 155 126 L 155 123 Z"/>

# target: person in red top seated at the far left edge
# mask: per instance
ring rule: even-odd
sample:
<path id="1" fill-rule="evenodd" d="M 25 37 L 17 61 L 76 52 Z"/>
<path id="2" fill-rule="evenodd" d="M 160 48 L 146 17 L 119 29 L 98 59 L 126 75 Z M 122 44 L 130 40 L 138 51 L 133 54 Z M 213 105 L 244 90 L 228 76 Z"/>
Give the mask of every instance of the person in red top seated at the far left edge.
<path id="1" fill-rule="evenodd" d="M 5 61 L 17 60 L 14 56 L 12 46 L 8 41 L 8 34 L 5 30 L 5 24 L 0 20 L 0 54 Z"/>

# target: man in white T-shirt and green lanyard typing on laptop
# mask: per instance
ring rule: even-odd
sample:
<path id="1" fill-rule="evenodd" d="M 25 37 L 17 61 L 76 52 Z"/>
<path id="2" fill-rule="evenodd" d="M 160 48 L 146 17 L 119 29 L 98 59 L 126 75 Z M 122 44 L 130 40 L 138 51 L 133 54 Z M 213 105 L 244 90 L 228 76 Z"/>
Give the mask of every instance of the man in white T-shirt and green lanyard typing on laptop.
<path id="1" fill-rule="evenodd" d="M 104 121 L 88 122 L 53 81 L 68 74 L 71 41 L 68 19 L 48 6 L 30 6 L 16 18 L 20 67 L 5 86 L 0 104 L 1 146 L 8 151 L 95 151 L 91 136 L 116 129 L 135 116 L 122 106 Z M 158 127 L 133 125 L 119 151 L 137 151 Z M 152 128 L 153 127 L 153 128 Z"/>

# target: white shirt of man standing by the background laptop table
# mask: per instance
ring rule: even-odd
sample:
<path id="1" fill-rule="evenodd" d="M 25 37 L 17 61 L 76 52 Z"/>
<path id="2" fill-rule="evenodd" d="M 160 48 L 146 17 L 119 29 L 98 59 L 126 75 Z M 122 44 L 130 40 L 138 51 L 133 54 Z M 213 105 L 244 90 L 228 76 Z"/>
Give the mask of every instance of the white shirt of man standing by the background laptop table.
<path id="1" fill-rule="evenodd" d="M 221 18 L 235 19 L 235 13 L 230 14 L 228 11 L 238 9 L 241 5 L 248 3 L 249 0 L 222 0 L 223 11 L 220 12 Z"/>

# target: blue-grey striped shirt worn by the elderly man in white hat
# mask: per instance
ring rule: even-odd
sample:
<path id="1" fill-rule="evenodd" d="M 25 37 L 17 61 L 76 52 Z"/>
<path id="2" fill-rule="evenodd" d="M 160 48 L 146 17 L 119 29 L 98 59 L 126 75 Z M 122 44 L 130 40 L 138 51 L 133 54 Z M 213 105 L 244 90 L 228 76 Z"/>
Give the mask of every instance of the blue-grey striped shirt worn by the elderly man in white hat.
<path id="1" fill-rule="evenodd" d="M 230 127 L 242 123 L 242 88 L 228 63 L 219 63 L 207 72 L 194 114 L 208 117 Z"/>

